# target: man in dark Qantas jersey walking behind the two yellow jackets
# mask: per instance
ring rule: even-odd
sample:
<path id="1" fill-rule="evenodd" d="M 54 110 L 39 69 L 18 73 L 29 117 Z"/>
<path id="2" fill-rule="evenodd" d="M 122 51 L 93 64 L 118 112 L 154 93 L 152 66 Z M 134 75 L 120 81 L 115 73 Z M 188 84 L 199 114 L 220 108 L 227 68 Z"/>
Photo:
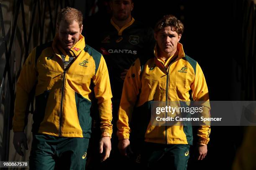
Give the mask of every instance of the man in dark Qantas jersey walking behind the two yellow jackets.
<path id="1" fill-rule="evenodd" d="M 110 0 L 112 18 L 107 22 L 97 20 L 94 30 L 88 30 L 95 34 L 87 34 L 87 43 L 102 53 L 110 76 L 113 94 L 112 160 L 116 160 L 119 154 L 116 122 L 125 75 L 138 57 L 152 55 L 155 45 L 153 29 L 132 17 L 133 6 L 133 0 Z M 97 27 L 99 23 L 101 26 Z"/>

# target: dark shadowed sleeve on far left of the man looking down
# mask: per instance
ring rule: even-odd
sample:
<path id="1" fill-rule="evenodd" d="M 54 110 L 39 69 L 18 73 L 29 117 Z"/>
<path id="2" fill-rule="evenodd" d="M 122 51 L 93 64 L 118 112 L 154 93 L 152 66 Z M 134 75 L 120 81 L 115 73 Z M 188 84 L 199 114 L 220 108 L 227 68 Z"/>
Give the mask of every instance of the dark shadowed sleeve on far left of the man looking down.
<path id="1" fill-rule="evenodd" d="M 36 48 L 34 48 L 28 55 L 16 84 L 13 132 L 23 132 L 25 128 L 26 108 L 28 105 L 29 94 L 37 80 L 35 54 Z"/>

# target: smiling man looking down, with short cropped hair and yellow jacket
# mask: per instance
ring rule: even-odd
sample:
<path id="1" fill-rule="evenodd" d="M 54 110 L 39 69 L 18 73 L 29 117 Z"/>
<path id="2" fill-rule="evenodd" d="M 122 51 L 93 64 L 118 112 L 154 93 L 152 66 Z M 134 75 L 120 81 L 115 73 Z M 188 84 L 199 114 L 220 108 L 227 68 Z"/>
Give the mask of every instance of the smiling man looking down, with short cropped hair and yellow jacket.
<path id="1" fill-rule="evenodd" d="M 91 95 L 100 114 L 102 161 L 110 155 L 112 134 L 111 88 L 102 55 L 85 44 L 82 13 L 71 7 L 59 12 L 54 40 L 28 56 L 17 82 L 13 144 L 23 155 L 23 133 L 29 93 L 36 87 L 33 143 L 29 166 L 36 170 L 84 169 L 91 134 Z M 61 164 L 60 164 L 61 161 Z"/>

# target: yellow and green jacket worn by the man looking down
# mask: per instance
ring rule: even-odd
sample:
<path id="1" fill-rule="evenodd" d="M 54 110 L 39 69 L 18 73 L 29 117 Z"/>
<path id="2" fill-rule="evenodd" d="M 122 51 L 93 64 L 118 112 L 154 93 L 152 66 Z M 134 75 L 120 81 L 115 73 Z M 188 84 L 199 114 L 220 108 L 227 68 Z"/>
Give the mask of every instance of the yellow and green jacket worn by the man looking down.
<path id="1" fill-rule="evenodd" d="M 40 45 L 28 56 L 17 82 L 13 131 L 23 131 L 29 94 L 35 86 L 36 110 L 33 133 L 60 137 L 90 138 L 91 99 L 97 99 L 102 136 L 112 134 L 112 93 L 102 55 L 79 41 L 69 52 L 53 42 Z M 74 57 L 64 67 L 64 61 Z M 94 96 L 92 96 L 92 91 Z"/>

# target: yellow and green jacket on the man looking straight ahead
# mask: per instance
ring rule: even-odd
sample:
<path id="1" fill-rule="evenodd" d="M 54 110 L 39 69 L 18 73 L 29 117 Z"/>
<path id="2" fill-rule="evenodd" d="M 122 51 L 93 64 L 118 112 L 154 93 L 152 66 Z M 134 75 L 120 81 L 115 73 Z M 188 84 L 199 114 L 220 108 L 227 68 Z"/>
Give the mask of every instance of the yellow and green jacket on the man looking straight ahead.
<path id="1" fill-rule="evenodd" d="M 176 57 L 174 55 L 166 62 L 157 57 L 156 47 L 154 52 L 155 56 L 144 62 L 142 70 L 143 61 L 137 59 L 127 73 L 118 113 L 118 138 L 129 139 L 131 131 L 145 128 L 143 136 L 146 142 L 192 145 L 191 126 L 151 125 L 149 103 L 150 101 L 190 101 L 190 99 L 209 101 L 203 72 L 195 60 L 184 54 L 180 43 L 177 45 Z M 203 112 L 209 115 L 210 107 L 205 106 L 207 107 L 204 107 Z M 136 122 L 136 129 L 131 129 L 131 124 L 134 123 L 131 119 L 138 113 L 143 118 Z M 199 139 L 197 142 L 202 145 L 207 144 L 209 134 L 210 126 L 200 126 L 197 130 Z"/>

